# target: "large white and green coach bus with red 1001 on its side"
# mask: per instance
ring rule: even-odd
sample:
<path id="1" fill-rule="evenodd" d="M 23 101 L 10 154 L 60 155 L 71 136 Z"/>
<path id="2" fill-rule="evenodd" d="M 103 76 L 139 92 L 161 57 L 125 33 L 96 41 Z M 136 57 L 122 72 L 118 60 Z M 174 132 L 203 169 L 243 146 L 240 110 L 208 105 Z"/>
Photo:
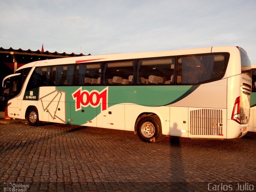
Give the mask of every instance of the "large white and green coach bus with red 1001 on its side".
<path id="1" fill-rule="evenodd" d="M 43 60 L 7 82 L 8 115 L 32 126 L 128 130 L 145 142 L 240 138 L 249 127 L 251 64 L 236 46 Z"/>

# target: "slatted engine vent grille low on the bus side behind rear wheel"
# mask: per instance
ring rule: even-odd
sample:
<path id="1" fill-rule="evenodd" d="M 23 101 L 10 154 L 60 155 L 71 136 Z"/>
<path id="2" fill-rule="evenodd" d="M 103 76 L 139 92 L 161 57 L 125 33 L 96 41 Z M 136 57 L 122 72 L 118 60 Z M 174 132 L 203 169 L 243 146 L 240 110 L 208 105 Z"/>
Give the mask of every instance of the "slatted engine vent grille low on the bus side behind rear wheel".
<path id="1" fill-rule="evenodd" d="M 200 109 L 190 111 L 190 134 L 223 136 L 223 111 Z"/>

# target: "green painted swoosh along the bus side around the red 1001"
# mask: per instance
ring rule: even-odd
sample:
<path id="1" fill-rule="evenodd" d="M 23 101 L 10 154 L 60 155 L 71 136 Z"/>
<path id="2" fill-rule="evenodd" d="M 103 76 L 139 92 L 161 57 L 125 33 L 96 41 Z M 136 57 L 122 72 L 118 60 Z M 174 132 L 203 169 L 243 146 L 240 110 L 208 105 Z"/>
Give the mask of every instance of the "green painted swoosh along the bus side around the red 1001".
<path id="1" fill-rule="evenodd" d="M 100 113 L 100 106 L 92 108 L 88 106 L 75 111 L 75 101 L 72 94 L 80 86 L 57 87 L 58 90 L 66 92 L 66 123 L 72 119 L 74 124 L 85 124 Z M 97 90 L 101 92 L 106 86 L 84 86 L 82 90 Z M 120 103 L 138 104 L 143 106 L 166 106 L 182 100 L 198 86 L 109 86 L 108 87 L 108 107 Z"/>

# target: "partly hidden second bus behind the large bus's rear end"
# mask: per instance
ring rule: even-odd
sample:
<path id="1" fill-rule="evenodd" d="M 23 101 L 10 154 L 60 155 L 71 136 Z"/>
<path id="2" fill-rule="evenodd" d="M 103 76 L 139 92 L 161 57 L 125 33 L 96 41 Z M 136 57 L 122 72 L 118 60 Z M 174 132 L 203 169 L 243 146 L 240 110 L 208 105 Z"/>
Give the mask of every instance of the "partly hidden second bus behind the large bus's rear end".
<path id="1" fill-rule="evenodd" d="M 252 93 L 250 108 L 250 132 L 256 132 L 256 64 L 252 64 Z"/>

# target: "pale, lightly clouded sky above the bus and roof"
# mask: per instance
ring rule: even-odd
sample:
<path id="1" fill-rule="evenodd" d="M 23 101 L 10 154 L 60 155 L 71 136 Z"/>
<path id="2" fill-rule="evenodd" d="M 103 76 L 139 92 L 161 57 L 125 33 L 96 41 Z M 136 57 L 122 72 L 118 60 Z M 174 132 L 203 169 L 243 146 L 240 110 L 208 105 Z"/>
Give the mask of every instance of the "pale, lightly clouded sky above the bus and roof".
<path id="1" fill-rule="evenodd" d="M 240 46 L 256 64 L 256 0 L 0 0 L 0 47 L 71 54 Z"/>

